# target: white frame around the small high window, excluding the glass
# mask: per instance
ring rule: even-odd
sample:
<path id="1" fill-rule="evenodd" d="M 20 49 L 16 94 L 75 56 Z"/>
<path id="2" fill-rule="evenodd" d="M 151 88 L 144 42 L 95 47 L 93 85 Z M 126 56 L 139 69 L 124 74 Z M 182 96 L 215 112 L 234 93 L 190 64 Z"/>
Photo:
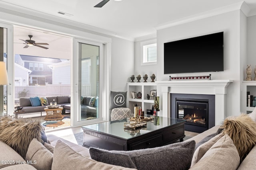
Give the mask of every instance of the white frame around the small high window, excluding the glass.
<path id="1" fill-rule="evenodd" d="M 148 48 L 157 46 L 156 39 L 140 42 L 141 48 L 141 65 L 155 65 L 157 61 L 148 61 Z"/>

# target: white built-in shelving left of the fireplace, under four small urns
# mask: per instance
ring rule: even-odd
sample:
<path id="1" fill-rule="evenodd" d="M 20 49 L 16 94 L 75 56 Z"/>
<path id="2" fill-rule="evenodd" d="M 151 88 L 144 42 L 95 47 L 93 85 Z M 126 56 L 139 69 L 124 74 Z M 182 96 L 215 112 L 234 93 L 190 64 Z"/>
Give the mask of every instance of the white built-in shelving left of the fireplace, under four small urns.
<path id="1" fill-rule="evenodd" d="M 147 109 L 151 109 L 154 105 L 154 99 L 150 98 L 147 99 L 147 94 L 150 95 L 151 90 L 156 90 L 156 82 L 129 82 L 127 83 L 127 99 L 128 99 L 128 106 L 132 114 L 134 114 L 134 106 L 137 104 L 142 108 L 142 111 L 145 112 Z M 138 98 L 132 98 L 132 92 L 138 92 L 142 93 L 141 99 Z M 137 97 L 137 96 L 135 96 Z"/>

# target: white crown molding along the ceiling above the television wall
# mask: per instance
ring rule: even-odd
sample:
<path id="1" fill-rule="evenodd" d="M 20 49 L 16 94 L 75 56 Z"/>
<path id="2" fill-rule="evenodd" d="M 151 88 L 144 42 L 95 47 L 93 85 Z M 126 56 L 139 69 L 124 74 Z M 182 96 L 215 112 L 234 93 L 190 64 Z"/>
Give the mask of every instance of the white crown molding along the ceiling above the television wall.
<path id="1" fill-rule="evenodd" d="M 208 18 L 208 17 L 211 17 L 211 16 L 216 16 L 216 15 L 219 15 L 219 14 L 224 14 L 226 12 L 240 10 L 240 9 L 244 12 L 244 14 L 248 14 L 248 10 L 250 10 L 250 9 L 248 9 L 247 4 L 244 1 L 242 1 L 242 2 L 238 2 L 236 4 L 224 6 L 224 7 L 221 7 L 221 8 L 216 8 L 214 10 L 210 10 L 210 11 L 202 12 L 202 13 L 195 14 L 195 15 L 192 15 L 192 16 L 188 16 L 188 17 L 185 17 L 185 18 L 181 18 L 179 20 L 174 20 L 174 21 L 162 23 L 162 24 L 157 25 L 155 28 L 156 28 L 156 30 L 160 30 L 160 29 L 172 27 L 172 26 L 175 26 L 175 25 L 180 25 L 180 24 L 183 24 L 183 23 L 188 23 L 188 22 L 191 22 L 191 21 L 196 21 L 196 20 Z"/>

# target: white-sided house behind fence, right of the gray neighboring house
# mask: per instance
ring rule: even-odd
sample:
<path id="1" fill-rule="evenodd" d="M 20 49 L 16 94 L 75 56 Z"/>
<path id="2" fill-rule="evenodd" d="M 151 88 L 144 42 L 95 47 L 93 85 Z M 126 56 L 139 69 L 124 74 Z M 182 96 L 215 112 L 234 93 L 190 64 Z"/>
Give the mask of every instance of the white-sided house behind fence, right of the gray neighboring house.
<path id="1" fill-rule="evenodd" d="M 70 60 L 48 66 L 52 69 L 52 84 L 70 84 Z"/>

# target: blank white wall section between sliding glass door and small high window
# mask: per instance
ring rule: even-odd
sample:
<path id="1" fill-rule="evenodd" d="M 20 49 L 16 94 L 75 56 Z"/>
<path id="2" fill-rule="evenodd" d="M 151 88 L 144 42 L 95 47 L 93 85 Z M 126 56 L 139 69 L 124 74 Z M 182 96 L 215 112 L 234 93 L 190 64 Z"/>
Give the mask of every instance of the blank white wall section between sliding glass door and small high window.
<path id="1" fill-rule="evenodd" d="M 127 91 L 127 82 L 134 74 L 134 42 L 112 37 L 111 91 Z"/>

